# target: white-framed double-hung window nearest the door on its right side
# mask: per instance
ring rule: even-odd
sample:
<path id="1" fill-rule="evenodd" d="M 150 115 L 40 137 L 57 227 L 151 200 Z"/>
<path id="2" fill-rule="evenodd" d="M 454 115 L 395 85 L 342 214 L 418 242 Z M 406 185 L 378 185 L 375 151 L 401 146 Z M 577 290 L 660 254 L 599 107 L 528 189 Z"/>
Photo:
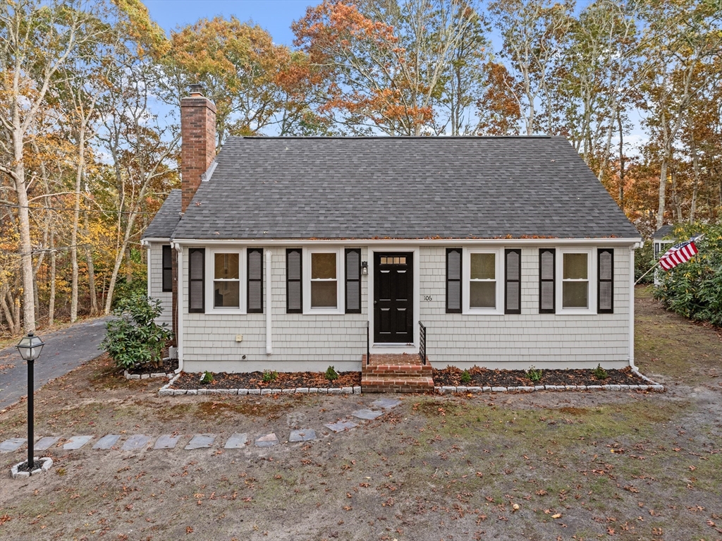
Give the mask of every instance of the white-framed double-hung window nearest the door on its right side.
<path id="1" fill-rule="evenodd" d="M 495 249 L 464 250 L 464 312 L 503 313 L 502 254 Z"/>

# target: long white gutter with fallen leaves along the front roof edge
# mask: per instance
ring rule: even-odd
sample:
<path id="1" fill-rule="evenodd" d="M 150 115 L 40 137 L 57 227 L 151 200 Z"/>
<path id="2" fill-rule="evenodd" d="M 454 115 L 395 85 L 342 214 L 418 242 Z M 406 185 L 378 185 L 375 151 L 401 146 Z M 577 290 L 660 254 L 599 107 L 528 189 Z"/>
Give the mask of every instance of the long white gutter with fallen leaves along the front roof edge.
<path id="1" fill-rule="evenodd" d="M 227 246 L 244 244 L 247 246 L 324 246 L 339 244 L 363 244 L 365 246 L 388 246 L 391 244 L 414 246 L 467 246 L 479 243 L 495 246 L 582 246 L 604 244 L 605 246 L 632 246 L 640 248 L 642 238 L 175 238 L 177 246 Z"/>

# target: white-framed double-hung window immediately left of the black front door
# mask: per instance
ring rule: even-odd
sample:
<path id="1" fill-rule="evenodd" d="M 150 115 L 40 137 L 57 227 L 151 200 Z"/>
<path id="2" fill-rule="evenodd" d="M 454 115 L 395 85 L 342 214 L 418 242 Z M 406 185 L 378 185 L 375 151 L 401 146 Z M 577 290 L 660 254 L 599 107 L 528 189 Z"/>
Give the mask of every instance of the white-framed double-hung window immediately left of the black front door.
<path id="1" fill-rule="evenodd" d="M 342 250 L 318 248 L 304 250 L 304 294 L 305 313 L 343 313 L 344 276 Z"/>

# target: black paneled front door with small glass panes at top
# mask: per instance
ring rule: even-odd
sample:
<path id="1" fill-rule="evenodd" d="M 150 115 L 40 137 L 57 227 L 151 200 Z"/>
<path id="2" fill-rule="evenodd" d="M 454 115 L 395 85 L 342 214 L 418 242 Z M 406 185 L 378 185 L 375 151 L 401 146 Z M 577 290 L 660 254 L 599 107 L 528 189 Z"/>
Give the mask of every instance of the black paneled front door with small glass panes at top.
<path id="1" fill-rule="evenodd" d="M 373 255 L 373 341 L 414 342 L 414 253 Z"/>

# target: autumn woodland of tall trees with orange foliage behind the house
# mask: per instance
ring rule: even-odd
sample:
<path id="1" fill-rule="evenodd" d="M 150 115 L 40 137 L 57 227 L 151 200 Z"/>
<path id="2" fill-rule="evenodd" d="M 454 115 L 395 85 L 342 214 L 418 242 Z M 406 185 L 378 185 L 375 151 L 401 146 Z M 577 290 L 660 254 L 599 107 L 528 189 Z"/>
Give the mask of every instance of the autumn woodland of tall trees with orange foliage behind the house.
<path id="1" fill-rule="evenodd" d="M 139 0 L 4 0 L 0 336 L 144 290 L 139 239 L 180 184 L 193 82 L 217 105 L 218 148 L 563 135 L 645 237 L 719 223 L 721 17 L 721 0 L 323 1 L 289 48 L 235 18 L 167 34 Z"/>

